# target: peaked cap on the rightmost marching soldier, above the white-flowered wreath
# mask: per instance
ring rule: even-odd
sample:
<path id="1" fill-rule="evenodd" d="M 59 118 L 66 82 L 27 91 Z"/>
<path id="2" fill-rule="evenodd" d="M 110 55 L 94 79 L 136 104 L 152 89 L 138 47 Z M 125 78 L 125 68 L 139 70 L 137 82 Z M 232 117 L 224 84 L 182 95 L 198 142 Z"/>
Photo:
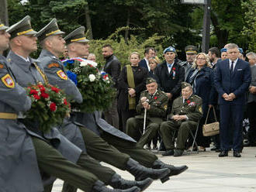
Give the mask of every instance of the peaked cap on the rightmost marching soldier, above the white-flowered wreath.
<path id="1" fill-rule="evenodd" d="M 78 29 L 74 29 L 71 33 L 64 37 L 66 44 L 70 43 L 87 43 L 89 40 L 85 37 L 85 27 L 80 26 Z"/>

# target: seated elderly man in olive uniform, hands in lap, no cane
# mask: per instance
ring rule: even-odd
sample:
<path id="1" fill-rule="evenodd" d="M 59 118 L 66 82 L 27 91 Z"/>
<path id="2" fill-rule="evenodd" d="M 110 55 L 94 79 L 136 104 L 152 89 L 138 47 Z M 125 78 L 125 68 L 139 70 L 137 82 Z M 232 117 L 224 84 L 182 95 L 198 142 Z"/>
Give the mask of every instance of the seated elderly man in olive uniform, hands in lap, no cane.
<path id="1" fill-rule="evenodd" d="M 189 130 L 195 129 L 202 117 L 202 99 L 192 94 L 192 86 L 182 82 L 182 96 L 173 101 L 168 121 L 161 123 L 161 135 L 166 151 L 163 156 L 182 156 Z M 174 133 L 178 131 L 175 149 Z"/>

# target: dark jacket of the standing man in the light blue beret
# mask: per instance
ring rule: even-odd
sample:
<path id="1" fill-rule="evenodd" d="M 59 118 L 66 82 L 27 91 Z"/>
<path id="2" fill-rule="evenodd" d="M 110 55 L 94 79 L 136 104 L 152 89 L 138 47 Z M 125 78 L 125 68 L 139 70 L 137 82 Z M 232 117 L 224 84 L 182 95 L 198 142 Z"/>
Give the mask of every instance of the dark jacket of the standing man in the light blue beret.
<path id="1" fill-rule="evenodd" d="M 155 74 L 157 76 L 157 83 L 161 90 L 166 93 L 171 93 L 173 98 L 177 98 L 182 90 L 181 83 L 184 81 L 185 72 L 184 68 L 178 63 L 174 63 L 172 69 L 174 68 L 175 77 L 173 70 L 171 70 L 171 73 L 169 74 L 166 61 L 164 61 L 157 65 Z"/>

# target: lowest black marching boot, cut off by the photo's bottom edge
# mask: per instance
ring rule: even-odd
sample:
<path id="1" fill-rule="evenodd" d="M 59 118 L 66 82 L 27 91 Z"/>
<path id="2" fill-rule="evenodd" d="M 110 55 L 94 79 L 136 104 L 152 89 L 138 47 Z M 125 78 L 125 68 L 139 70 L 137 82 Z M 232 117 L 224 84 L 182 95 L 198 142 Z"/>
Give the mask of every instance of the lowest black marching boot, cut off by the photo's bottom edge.
<path id="1" fill-rule="evenodd" d="M 111 189 L 106 187 L 106 185 L 102 181 L 97 180 L 94 183 L 91 192 L 140 192 L 140 188 L 134 186 L 126 190 Z"/>

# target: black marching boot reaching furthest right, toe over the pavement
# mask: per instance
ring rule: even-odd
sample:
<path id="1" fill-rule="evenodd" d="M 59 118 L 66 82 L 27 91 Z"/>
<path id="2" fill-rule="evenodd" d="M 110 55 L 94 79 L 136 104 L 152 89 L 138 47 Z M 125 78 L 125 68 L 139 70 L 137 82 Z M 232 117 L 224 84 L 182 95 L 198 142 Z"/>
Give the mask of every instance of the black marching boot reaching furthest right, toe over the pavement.
<path id="1" fill-rule="evenodd" d="M 178 175 L 179 173 L 182 173 L 183 171 L 187 170 L 189 167 L 188 166 L 172 166 L 157 159 L 154 161 L 152 168 L 154 169 L 168 168 L 171 171 L 166 177 L 161 178 L 161 182 L 164 183 L 165 181 L 169 180 L 169 177 Z"/>

